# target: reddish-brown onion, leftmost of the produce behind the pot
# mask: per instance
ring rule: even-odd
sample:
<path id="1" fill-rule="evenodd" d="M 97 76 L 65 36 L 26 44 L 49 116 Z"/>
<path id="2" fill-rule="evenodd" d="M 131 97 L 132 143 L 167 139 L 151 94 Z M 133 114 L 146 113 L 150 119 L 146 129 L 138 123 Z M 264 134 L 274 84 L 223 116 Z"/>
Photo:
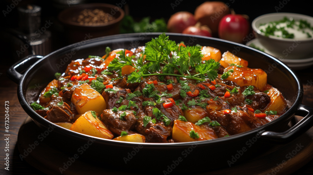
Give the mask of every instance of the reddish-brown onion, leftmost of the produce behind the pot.
<path id="1" fill-rule="evenodd" d="M 193 26 L 197 23 L 193 14 L 182 11 L 174 13 L 167 22 L 167 31 L 173 33 L 182 33 L 188 26 Z"/>

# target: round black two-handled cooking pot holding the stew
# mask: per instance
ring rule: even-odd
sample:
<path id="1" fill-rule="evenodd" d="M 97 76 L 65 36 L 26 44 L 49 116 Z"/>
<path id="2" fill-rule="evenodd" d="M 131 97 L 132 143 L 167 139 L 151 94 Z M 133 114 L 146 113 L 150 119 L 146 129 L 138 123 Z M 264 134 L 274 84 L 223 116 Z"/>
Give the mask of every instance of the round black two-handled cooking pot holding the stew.
<path id="1" fill-rule="evenodd" d="M 69 157 L 78 154 L 81 160 L 105 168 L 118 168 L 116 170 L 144 174 L 206 172 L 275 150 L 281 143 L 290 142 L 312 127 L 313 109 L 301 104 L 303 87 L 295 73 L 285 64 L 238 43 L 174 33 L 168 33 L 171 40 L 183 41 L 186 45 L 216 47 L 222 53 L 230 51 L 249 61 L 249 68 L 263 69 L 268 75 L 268 83 L 283 93 L 289 104 L 287 112 L 259 128 L 227 138 L 188 143 L 138 144 L 95 138 L 64 129 L 44 119 L 30 107 L 30 102 L 36 100 L 41 90 L 54 79 L 54 73 L 64 72 L 71 60 L 87 58 L 89 55 L 102 56 L 107 46 L 111 49 L 143 46 L 159 34 L 135 33 L 85 38 L 84 41 L 61 48 L 45 57 L 28 56 L 14 64 L 8 70 L 8 76 L 18 83 L 18 99 L 25 112 L 43 129 L 43 133 L 48 131 L 49 137 L 55 138 L 51 144 L 68 153 Z M 292 128 L 287 128 L 295 114 L 305 118 Z M 88 146 L 83 153 L 80 150 L 82 146 Z"/>

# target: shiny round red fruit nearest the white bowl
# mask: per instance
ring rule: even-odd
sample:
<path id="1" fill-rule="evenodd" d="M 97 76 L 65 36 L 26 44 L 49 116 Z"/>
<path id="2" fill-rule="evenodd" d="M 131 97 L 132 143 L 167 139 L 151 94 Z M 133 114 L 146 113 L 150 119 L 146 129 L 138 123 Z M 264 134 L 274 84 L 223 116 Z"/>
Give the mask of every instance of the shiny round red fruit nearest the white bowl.
<path id="1" fill-rule="evenodd" d="M 221 39 L 242 43 L 249 34 L 248 20 L 239 14 L 225 15 L 218 25 L 218 36 Z"/>

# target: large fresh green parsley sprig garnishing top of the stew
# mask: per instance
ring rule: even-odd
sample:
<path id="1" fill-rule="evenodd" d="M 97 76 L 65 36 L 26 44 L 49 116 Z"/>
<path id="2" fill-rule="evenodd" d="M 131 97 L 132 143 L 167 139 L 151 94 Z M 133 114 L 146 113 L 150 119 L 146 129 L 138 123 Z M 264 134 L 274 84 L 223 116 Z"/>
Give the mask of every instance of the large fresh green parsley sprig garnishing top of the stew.
<path id="1" fill-rule="evenodd" d="M 172 56 L 170 57 L 171 53 Z M 159 76 L 176 76 L 205 81 L 205 78 L 215 79 L 218 76 L 217 69 L 220 64 L 213 59 L 202 63 L 201 47 L 178 47 L 175 41 L 169 40 L 169 37 L 162 33 L 157 38 L 152 38 L 146 43 L 143 55 L 146 55 L 146 63 L 142 65 L 138 61 L 134 61 L 135 56 L 127 56 L 125 51 L 120 51 L 117 54 L 120 56 L 114 58 L 108 66 L 109 71 L 121 73 L 124 66 L 132 66 L 135 68 L 127 79 L 127 83 L 140 83 L 141 78 L 151 75 Z M 142 66 L 141 66 L 142 65 Z M 189 68 L 194 68 L 196 74 L 192 75 Z M 180 74 L 174 74 L 175 69 Z"/>

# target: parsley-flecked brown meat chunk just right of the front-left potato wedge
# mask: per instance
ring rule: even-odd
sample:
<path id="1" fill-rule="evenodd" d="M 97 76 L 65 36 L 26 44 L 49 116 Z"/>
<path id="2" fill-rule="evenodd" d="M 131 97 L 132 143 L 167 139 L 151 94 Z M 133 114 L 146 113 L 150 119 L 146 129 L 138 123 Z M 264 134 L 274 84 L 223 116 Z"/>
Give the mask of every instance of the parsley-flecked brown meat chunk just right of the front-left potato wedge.
<path id="1" fill-rule="evenodd" d="M 121 118 L 125 113 L 125 116 Z M 101 121 L 110 129 L 112 133 L 119 136 L 122 131 L 131 134 L 135 128 L 137 118 L 132 111 L 113 112 L 111 109 L 105 109 L 101 115 Z"/>

